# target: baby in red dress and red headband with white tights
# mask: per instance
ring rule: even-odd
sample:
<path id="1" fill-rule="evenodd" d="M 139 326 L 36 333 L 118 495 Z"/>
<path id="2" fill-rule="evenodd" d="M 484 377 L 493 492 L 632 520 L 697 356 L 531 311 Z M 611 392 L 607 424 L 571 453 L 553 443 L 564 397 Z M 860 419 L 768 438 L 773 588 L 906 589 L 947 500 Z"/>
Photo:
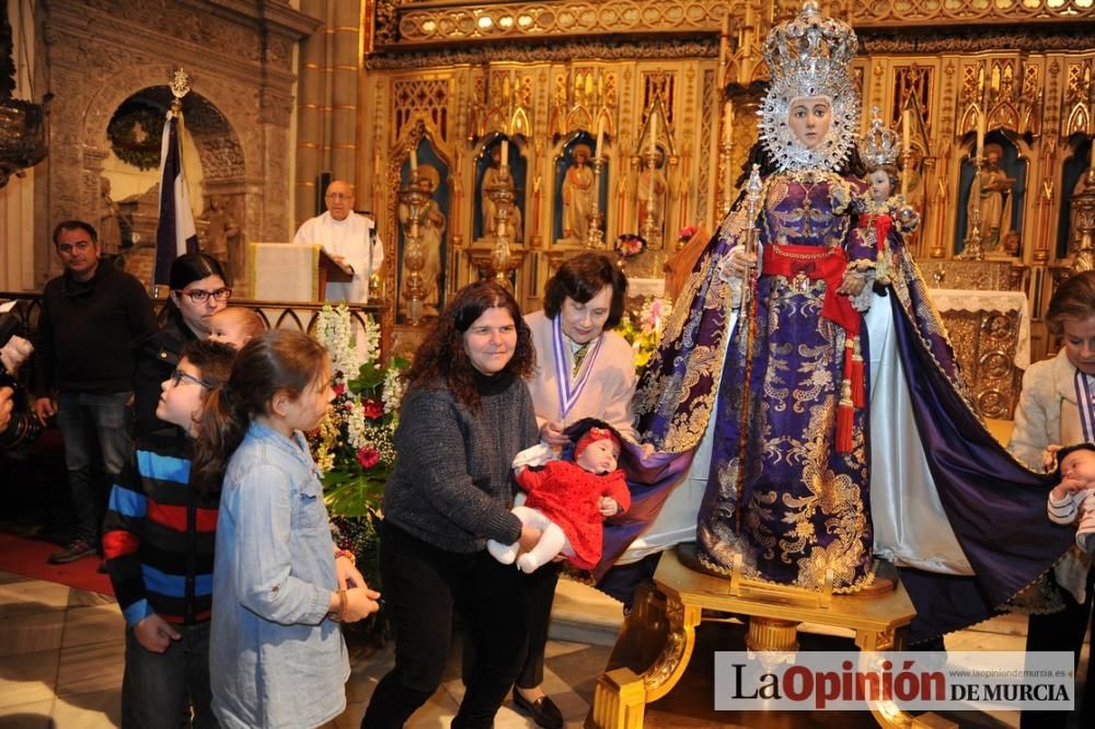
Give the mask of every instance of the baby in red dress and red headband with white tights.
<path id="1" fill-rule="evenodd" d="M 620 437 L 608 424 L 591 423 L 574 447 L 574 461 L 522 465 L 533 449 L 518 453 L 514 472 L 528 497 L 512 512 L 522 524 L 535 526 L 542 535 L 520 557 L 517 543 L 488 540 L 486 548 L 495 559 L 504 565 L 516 559 L 522 572 L 535 571 L 558 554 L 578 569 L 591 569 L 600 560 L 602 522 L 606 517 L 627 510 L 631 493 L 623 470 L 616 466 Z"/>

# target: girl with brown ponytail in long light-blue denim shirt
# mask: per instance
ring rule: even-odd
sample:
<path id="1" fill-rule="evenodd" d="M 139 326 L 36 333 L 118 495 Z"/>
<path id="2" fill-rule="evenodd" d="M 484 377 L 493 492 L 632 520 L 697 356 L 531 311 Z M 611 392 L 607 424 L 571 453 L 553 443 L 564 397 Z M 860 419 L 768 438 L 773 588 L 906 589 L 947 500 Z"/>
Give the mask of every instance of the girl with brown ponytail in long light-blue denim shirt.
<path id="1" fill-rule="evenodd" d="M 301 431 L 333 392 L 323 347 L 274 329 L 240 351 L 210 393 L 195 468 L 227 463 L 217 524 L 209 669 L 222 727 L 315 727 L 343 713 L 349 661 L 339 622 L 378 609 L 336 552 Z"/>

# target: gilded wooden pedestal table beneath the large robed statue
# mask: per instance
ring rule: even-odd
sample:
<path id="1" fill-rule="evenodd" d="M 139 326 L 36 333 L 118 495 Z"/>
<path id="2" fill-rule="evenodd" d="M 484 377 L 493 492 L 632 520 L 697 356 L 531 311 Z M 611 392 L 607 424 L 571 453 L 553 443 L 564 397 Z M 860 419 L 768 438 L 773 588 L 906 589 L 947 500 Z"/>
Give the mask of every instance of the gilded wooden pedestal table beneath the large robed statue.
<path id="1" fill-rule="evenodd" d="M 618 668 L 598 679 L 586 722 L 591 729 L 642 729 L 646 705 L 666 696 L 684 674 L 695 648 L 695 628 L 704 620 L 725 622 L 717 613 L 748 617 L 747 644 L 759 651 L 797 649 L 797 627 L 805 622 L 852 630 L 861 651 L 901 650 L 917 614 L 900 582 L 887 592 L 832 595 L 739 574 L 727 579 L 699 572 L 685 567 L 677 552 L 661 556 L 654 583 L 656 592 L 636 601 L 620 641 L 636 636 L 642 641 L 664 632 L 665 643 L 637 647 L 641 656 L 660 648 L 642 674 Z M 630 630 L 631 625 L 644 629 Z M 926 718 L 913 718 L 892 704 L 872 706 L 872 713 L 884 727 L 924 726 Z"/>

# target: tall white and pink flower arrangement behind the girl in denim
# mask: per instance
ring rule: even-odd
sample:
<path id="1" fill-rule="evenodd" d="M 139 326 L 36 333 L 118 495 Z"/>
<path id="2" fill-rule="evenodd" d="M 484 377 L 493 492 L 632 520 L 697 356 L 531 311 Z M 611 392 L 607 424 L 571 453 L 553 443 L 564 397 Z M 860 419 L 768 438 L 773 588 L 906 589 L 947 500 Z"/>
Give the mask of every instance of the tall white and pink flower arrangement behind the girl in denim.
<path id="1" fill-rule="evenodd" d="M 410 362 L 394 357 L 381 366 L 380 327 L 366 319 L 364 332 L 355 336 L 345 304 L 323 308 L 315 338 L 331 356 L 335 398 L 309 433 L 309 445 L 322 474 L 335 543 L 354 552 L 369 585 L 379 585 L 376 526 L 395 463 L 393 438 Z"/>

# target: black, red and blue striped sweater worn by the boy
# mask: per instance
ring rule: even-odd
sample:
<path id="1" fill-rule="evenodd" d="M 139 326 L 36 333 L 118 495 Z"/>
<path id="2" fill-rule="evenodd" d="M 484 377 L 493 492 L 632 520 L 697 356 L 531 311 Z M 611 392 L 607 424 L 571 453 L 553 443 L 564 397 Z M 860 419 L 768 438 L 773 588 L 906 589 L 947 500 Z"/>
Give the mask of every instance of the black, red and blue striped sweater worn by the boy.
<path id="1" fill-rule="evenodd" d="M 103 552 L 126 624 L 152 613 L 169 623 L 209 620 L 217 496 L 189 487 L 189 440 L 138 440 L 111 489 Z"/>

